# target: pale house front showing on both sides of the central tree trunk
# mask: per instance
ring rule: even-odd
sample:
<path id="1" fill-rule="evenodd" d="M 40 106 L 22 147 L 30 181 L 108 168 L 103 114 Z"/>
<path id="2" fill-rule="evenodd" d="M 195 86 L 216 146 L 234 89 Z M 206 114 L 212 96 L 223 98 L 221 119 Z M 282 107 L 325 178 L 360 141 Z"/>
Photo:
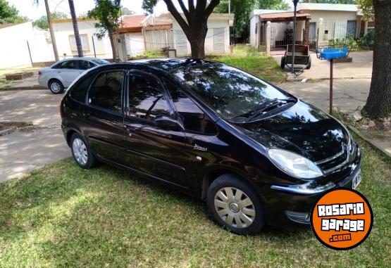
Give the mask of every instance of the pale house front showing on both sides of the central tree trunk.
<path id="1" fill-rule="evenodd" d="M 205 39 L 205 53 L 230 52 L 230 27 L 233 25 L 234 14 L 212 13 L 208 18 L 208 32 Z M 173 40 L 177 56 L 191 54 L 190 42 L 179 23 L 173 18 Z"/>

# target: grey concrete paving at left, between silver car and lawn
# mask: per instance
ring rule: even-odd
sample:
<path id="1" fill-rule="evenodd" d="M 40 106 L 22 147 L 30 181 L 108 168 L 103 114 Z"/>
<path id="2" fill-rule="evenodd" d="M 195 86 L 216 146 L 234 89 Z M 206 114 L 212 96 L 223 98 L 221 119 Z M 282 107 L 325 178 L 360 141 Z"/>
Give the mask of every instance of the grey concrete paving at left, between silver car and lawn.
<path id="1" fill-rule="evenodd" d="M 45 90 L 0 91 L 0 122 L 32 122 L 28 132 L 0 136 L 0 182 L 70 156 L 58 113 L 62 95 Z"/>

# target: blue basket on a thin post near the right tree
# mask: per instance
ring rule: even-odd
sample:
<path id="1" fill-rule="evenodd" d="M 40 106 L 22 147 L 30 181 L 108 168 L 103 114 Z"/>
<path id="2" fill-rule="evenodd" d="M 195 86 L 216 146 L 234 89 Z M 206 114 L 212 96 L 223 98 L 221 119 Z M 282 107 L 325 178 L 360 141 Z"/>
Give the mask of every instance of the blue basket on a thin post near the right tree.
<path id="1" fill-rule="evenodd" d="M 316 57 L 321 60 L 330 60 L 330 115 L 333 115 L 333 63 L 335 58 L 346 58 L 349 54 L 347 46 L 318 46 Z"/>

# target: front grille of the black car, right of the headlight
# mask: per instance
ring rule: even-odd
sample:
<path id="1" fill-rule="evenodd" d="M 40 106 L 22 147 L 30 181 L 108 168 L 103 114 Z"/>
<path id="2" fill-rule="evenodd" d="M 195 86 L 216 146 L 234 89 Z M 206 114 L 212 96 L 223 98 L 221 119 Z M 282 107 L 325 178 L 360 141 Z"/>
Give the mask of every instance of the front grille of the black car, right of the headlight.
<path id="1" fill-rule="evenodd" d="M 354 153 L 354 145 L 352 139 L 349 139 L 347 146 L 342 146 L 341 151 L 330 158 L 325 158 L 315 162 L 318 167 L 321 167 L 325 174 L 334 172 L 335 170 L 340 170 L 347 162 L 349 162 L 349 155 Z"/>

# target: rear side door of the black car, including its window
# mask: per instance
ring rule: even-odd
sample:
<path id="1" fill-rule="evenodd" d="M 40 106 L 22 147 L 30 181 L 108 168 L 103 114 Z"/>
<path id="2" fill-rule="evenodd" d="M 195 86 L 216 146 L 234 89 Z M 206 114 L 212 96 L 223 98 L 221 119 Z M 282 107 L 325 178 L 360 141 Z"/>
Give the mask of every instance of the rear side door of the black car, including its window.
<path id="1" fill-rule="evenodd" d="M 80 105 L 83 136 L 100 158 L 123 165 L 123 85 L 125 70 L 100 72 Z"/>

